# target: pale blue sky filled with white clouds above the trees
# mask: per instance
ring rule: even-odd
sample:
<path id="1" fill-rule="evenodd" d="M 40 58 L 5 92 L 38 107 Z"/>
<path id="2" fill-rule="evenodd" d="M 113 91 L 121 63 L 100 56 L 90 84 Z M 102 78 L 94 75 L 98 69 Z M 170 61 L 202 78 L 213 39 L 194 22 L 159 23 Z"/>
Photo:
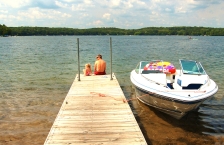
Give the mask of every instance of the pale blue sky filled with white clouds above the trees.
<path id="1" fill-rule="evenodd" d="M 0 0 L 7 27 L 224 28 L 224 0 Z"/>

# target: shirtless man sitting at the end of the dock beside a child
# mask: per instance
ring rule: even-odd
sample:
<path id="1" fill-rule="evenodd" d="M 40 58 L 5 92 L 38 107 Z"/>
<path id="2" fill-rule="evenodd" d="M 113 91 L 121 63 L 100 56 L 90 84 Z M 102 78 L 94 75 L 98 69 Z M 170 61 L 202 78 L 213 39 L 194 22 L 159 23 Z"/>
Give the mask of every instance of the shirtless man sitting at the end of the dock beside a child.
<path id="1" fill-rule="evenodd" d="M 96 56 L 96 61 L 94 65 L 95 75 L 105 75 L 106 74 L 106 62 L 102 59 L 102 55 L 98 54 Z"/>

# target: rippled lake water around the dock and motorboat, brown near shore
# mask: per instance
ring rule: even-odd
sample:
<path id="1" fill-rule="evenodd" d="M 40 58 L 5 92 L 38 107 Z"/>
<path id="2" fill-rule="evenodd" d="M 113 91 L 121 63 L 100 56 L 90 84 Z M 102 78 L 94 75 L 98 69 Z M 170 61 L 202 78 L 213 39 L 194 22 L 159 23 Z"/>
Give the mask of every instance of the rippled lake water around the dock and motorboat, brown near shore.
<path id="1" fill-rule="evenodd" d="M 127 99 L 135 98 L 130 72 L 141 60 L 200 61 L 219 91 L 197 111 L 176 120 L 137 100 L 129 102 L 148 144 L 224 144 L 224 37 L 31 36 L 0 37 L 0 144 L 43 144 L 78 73 L 102 54 Z"/>

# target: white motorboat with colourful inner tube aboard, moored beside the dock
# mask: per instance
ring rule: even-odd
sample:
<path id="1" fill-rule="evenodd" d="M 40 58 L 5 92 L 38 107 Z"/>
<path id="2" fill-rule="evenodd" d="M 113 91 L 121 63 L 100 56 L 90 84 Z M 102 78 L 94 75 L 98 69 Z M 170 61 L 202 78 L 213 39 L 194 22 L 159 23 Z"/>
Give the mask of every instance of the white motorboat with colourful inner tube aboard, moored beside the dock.
<path id="1" fill-rule="evenodd" d="M 177 119 L 218 91 L 200 62 L 180 59 L 179 63 L 176 69 L 162 60 L 141 61 L 130 75 L 141 102 Z"/>

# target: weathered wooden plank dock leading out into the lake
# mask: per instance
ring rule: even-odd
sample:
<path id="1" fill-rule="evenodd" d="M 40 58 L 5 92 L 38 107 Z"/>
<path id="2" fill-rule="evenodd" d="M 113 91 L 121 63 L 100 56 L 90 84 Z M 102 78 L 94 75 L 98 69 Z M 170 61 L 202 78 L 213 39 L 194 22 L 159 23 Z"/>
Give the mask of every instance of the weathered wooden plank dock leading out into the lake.
<path id="1" fill-rule="evenodd" d="M 45 145 L 147 145 L 113 74 L 76 76 Z"/>

